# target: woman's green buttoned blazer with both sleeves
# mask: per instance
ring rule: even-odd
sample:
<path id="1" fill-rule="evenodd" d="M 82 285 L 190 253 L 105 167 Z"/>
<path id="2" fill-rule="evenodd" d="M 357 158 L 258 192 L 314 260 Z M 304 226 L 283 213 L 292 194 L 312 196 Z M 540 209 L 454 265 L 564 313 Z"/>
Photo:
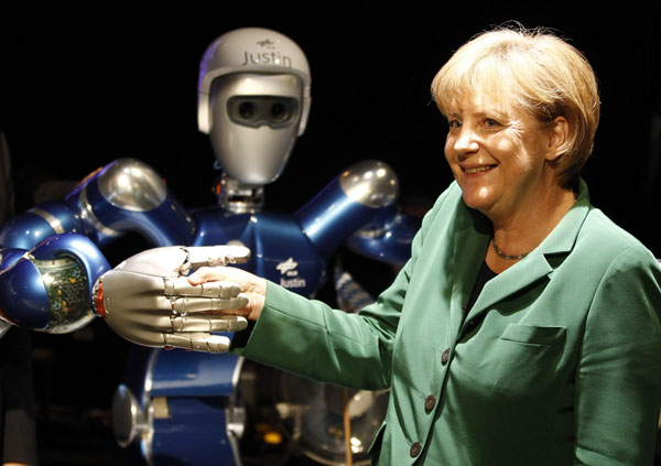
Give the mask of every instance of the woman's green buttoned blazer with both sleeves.
<path id="1" fill-rule="evenodd" d="M 359 315 L 273 283 L 248 358 L 316 380 L 391 388 L 379 465 L 651 465 L 661 398 L 661 270 L 575 205 L 466 315 L 490 224 L 453 183 L 412 257 Z"/>

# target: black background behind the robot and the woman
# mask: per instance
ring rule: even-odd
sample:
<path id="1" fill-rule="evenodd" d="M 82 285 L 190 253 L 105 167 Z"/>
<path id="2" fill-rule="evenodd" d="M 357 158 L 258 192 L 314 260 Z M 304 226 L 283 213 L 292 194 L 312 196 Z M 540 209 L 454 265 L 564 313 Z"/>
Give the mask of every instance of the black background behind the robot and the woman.
<path id="1" fill-rule="evenodd" d="M 292 212 L 362 159 L 392 165 L 404 199 L 431 203 L 452 180 L 443 156 L 446 127 L 431 102 L 431 80 L 472 35 L 518 20 L 557 30 L 593 64 L 603 102 L 595 155 L 584 172 L 593 203 L 661 256 L 653 227 L 661 187 L 661 21 L 655 7 L 217 3 L 152 10 L 95 3 L 94 10 L 2 12 L 0 128 L 12 151 L 21 209 L 33 204 L 32 193 L 43 181 L 80 180 L 121 156 L 152 165 L 188 207 L 215 203 L 214 158 L 208 138 L 196 127 L 198 61 L 214 39 L 242 26 L 289 35 L 312 69 L 307 130 L 281 178 L 268 187 L 268 206 Z M 123 252 L 129 250 L 115 250 L 118 258 Z M 69 418 L 48 411 L 41 438 L 56 438 L 58 446 L 45 442 L 44 448 L 84 448 L 58 435 L 71 429 L 82 434 L 58 424 L 82 412 L 98 424 L 84 427 L 86 448 L 102 449 L 89 437 L 107 435 L 106 410 L 123 354 L 118 338 L 97 324 L 77 337 L 45 336 L 45 344 L 37 336 L 39 401 L 76 400 L 78 405 Z M 42 452 L 43 464 L 57 464 L 55 457 Z"/>

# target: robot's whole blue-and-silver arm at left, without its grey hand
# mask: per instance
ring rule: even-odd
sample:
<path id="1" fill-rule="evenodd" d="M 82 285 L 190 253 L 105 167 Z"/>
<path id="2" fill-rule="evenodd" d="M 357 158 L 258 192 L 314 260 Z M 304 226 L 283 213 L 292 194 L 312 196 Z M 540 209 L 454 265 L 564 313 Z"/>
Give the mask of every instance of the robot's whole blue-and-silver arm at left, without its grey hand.
<path id="1" fill-rule="evenodd" d="M 189 243 L 195 232 L 193 218 L 158 174 L 131 159 L 94 172 L 64 202 L 35 206 L 4 224 L 2 327 L 64 333 L 87 324 L 91 286 L 110 269 L 98 247 L 130 230 L 156 246 Z"/>

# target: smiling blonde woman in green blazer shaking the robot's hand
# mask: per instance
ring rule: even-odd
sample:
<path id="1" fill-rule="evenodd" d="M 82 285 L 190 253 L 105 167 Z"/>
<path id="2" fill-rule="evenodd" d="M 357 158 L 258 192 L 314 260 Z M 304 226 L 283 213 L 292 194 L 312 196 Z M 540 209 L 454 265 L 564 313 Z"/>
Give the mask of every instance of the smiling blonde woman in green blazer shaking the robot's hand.
<path id="1" fill-rule="evenodd" d="M 317 380 L 391 388 L 380 465 L 651 464 L 661 273 L 589 204 L 594 73 L 544 33 L 496 30 L 435 77 L 456 182 L 411 260 L 359 316 L 237 269 L 256 324 L 235 351 Z"/>

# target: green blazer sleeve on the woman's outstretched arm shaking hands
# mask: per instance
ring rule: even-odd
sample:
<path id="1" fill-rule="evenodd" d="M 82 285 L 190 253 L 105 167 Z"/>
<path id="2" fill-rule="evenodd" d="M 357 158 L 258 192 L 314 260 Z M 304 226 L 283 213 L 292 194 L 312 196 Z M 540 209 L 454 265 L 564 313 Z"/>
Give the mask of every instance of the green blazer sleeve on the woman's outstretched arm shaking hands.
<path id="1" fill-rule="evenodd" d="M 448 191 L 423 219 L 411 259 L 376 303 L 359 314 L 347 314 L 268 282 L 266 305 L 248 343 L 232 351 L 322 382 L 367 390 L 389 388 L 392 349 L 409 281 L 425 231 Z"/>

